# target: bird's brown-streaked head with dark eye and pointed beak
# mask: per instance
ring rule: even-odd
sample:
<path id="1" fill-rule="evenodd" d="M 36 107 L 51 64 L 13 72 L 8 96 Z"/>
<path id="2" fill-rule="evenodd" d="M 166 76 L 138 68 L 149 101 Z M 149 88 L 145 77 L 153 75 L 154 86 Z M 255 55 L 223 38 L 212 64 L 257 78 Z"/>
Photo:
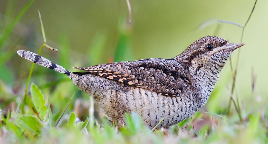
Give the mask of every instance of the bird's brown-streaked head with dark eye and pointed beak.
<path id="1" fill-rule="evenodd" d="M 195 75 L 202 67 L 219 72 L 232 52 L 243 45 L 241 43 L 230 44 L 225 39 L 216 36 L 206 36 L 192 43 L 177 56 L 177 59 L 184 66 L 189 67 Z"/>

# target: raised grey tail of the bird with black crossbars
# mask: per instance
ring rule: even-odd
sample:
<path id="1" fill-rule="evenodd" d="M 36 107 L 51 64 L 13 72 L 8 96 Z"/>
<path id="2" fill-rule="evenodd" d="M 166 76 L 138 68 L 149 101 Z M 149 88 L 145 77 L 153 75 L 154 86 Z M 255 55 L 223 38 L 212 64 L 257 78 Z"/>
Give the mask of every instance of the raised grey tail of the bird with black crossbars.
<path id="1" fill-rule="evenodd" d="M 20 55 L 21 57 L 30 60 L 31 62 L 37 63 L 38 65 L 53 69 L 55 71 L 58 71 L 60 73 L 66 74 L 66 75 L 70 75 L 72 74 L 70 71 L 64 69 L 62 66 L 59 66 L 51 61 L 49 61 L 48 59 L 35 54 L 33 52 L 30 51 L 24 51 L 24 50 L 18 50 L 17 51 L 18 55 Z"/>

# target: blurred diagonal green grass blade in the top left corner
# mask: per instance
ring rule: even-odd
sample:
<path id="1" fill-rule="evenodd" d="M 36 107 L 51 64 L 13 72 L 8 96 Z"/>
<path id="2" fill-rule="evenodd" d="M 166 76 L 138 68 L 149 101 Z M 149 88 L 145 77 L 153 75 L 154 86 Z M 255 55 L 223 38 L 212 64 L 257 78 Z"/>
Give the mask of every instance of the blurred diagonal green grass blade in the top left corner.
<path id="1" fill-rule="evenodd" d="M 1 48 L 2 48 L 3 43 L 8 38 L 9 33 L 12 31 L 12 29 L 14 28 L 14 26 L 20 20 L 21 16 L 26 12 L 26 10 L 32 5 L 32 3 L 34 1 L 35 0 L 29 1 L 27 3 L 27 5 L 25 5 L 23 7 L 23 9 L 21 9 L 21 11 L 18 13 L 17 17 L 10 23 L 10 25 L 8 25 L 8 27 L 6 28 L 5 32 L 3 33 L 2 37 L 0 38 L 0 51 L 1 51 Z"/>

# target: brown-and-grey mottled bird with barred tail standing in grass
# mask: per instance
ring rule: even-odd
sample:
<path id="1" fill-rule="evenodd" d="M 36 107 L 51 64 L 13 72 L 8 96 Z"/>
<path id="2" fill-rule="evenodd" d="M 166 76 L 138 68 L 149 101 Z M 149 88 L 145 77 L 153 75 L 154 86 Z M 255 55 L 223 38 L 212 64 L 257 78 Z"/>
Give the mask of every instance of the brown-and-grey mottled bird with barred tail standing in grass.
<path id="1" fill-rule="evenodd" d="M 171 59 L 140 59 L 73 67 L 70 72 L 33 52 L 18 50 L 21 57 L 66 74 L 82 91 L 93 97 L 106 116 L 123 126 L 124 114 L 136 112 L 150 128 L 167 128 L 202 108 L 229 56 L 242 43 L 229 43 L 216 36 L 202 37 Z"/>

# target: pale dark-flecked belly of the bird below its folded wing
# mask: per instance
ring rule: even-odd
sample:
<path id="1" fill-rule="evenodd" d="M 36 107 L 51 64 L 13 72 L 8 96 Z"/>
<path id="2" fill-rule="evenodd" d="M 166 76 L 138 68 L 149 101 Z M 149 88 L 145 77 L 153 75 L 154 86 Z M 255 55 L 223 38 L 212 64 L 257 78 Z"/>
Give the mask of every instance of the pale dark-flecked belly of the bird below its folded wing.
<path id="1" fill-rule="evenodd" d="M 160 128 L 177 124 L 197 110 L 190 94 L 163 96 L 94 74 L 80 76 L 78 83 L 77 80 L 73 81 L 79 89 L 93 96 L 95 104 L 107 116 L 117 119 L 119 125 L 124 123 L 125 112 L 137 112 L 150 127 L 156 126 L 166 116 Z"/>

